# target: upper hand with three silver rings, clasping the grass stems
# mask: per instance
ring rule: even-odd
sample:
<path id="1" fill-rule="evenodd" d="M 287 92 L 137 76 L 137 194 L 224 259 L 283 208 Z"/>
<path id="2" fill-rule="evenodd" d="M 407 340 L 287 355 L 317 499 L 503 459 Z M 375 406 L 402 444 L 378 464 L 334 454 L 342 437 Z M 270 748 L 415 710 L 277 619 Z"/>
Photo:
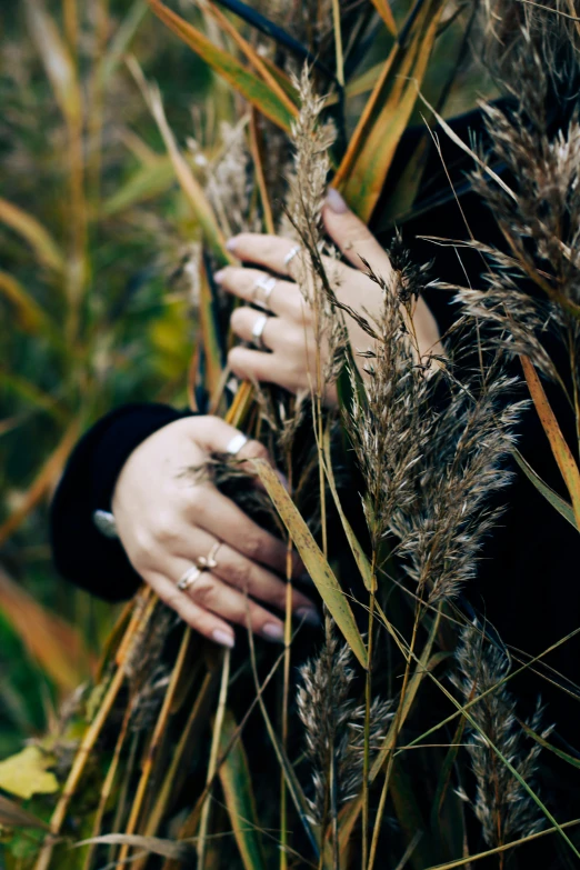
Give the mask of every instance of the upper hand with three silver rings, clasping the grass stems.
<path id="1" fill-rule="evenodd" d="M 362 260 L 369 263 L 376 274 L 388 281 L 392 271 L 388 254 L 368 227 L 347 208 L 342 197 L 332 188 L 329 190 L 322 217 L 328 234 L 352 263 L 348 266 L 323 258 L 329 274 L 334 279 L 333 290 L 338 299 L 363 317 L 378 317 L 382 308 L 382 290 L 364 273 Z M 263 304 L 268 292 L 267 308 L 272 316 L 263 328 L 262 341 L 271 352 L 244 347 L 232 348 L 228 362 L 234 374 L 277 383 L 296 393 L 308 390 L 316 382 L 317 342 L 313 312 L 298 284 L 291 280 L 292 274 L 297 274 L 297 268 L 300 268 L 300 254 L 286 262 L 294 246 L 292 240 L 277 236 L 236 236 L 228 242 L 229 250 L 240 260 L 261 268 L 228 266 L 221 269 L 214 279 L 224 290 L 246 302 Z M 272 289 L 267 291 L 264 281 L 271 273 L 286 276 L 290 280 L 280 278 L 271 284 Z M 237 308 L 231 318 L 232 329 L 239 338 L 252 341 L 252 329 L 262 317 L 263 314 L 253 308 Z M 357 359 L 358 352 L 369 350 L 372 339 L 348 316 L 347 328 Z M 442 352 L 436 320 L 422 299 L 418 300 L 414 309 L 413 328 L 421 357 Z M 323 353 L 323 349 L 321 352 Z M 333 394 L 327 398 L 332 401 Z"/>

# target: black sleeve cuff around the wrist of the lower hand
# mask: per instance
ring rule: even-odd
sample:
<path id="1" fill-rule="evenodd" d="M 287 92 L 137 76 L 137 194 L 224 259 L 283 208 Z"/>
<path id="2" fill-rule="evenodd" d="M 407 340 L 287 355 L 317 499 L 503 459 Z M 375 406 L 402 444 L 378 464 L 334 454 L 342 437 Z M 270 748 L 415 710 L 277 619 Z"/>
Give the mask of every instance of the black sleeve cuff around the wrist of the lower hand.
<path id="1" fill-rule="evenodd" d="M 52 554 L 62 577 L 109 601 L 128 599 L 137 591 L 140 578 L 120 542 L 97 529 L 92 513 L 111 509 L 117 478 L 134 448 L 188 416 L 166 404 L 126 404 L 79 441 L 50 510 Z"/>

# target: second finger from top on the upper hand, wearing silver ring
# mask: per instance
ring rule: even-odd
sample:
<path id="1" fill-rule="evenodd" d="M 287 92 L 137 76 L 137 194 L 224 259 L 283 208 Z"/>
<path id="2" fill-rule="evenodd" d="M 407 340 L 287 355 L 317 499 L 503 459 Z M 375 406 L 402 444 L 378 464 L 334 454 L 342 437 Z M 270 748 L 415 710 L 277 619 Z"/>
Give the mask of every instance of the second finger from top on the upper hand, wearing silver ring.
<path id="1" fill-rule="evenodd" d="M 244 269 L 234 266 L 220 269 L 213 279 L 229 293 L 233 293 L 246 302 L 262 307 L 266 303 L 266 310 L 279 317 L 289 317 L 299 323 L 310 322 L 310 306 L 293 281 L 273 278 L 259 269 Z M 267 296 L 264 287 L 260 287 L 257 282 L 261 281 L 263 284 L 268 280 L 274 281 L 274 283 Z"/>

